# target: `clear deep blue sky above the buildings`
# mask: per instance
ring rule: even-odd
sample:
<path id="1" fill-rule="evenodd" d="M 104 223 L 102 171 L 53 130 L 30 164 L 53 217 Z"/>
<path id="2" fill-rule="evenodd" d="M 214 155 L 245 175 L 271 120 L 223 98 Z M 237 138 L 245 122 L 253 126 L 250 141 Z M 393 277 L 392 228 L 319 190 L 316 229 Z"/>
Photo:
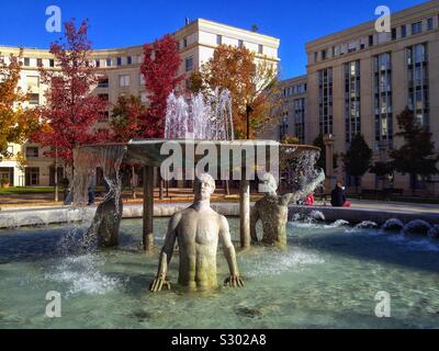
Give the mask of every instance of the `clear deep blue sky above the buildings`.
<path id="1" fill-rule="evenodd" d="M 90 20 L 94 48 L 123 47 L 154 41 L 184 25 L 184 19 L 204 18 L 250 29 L 281 39 L 282 78 L 306 71 L 305 43 L 374 20 L 385 4 L 392 12 L 425 0 L 14 0 L 2 1 L 0 45 L 47 48 L 59 33 L 45 30 L 45 10 L 61 8 L 63 21 Z"/>

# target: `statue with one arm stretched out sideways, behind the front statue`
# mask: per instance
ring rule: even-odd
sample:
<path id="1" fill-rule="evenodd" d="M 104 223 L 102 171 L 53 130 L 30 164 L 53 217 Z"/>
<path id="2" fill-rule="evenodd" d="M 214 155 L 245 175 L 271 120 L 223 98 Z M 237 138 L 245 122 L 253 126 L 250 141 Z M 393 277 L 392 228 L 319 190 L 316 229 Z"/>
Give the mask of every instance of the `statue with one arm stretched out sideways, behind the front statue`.
<path id="1" fill-rule="evenodd" d="M 258 242 L 256 225 L 259 220 L 262 220 L 262 244 L 285 246 L 289 205 L 291 203 L 295 204 L 299 200 L 313 193 L 324 180 L 325 172 L 322 170 L 315 180 L 308 184 L 303 184 L 301 190 L 285 195 L 278 195 L 278 183 L 274 177 L 266 173 L 261 179 L 261 185 L 264 188 L 266 195 L 255 204 L 251 211 L 250 233 L 252 242 Z"/>

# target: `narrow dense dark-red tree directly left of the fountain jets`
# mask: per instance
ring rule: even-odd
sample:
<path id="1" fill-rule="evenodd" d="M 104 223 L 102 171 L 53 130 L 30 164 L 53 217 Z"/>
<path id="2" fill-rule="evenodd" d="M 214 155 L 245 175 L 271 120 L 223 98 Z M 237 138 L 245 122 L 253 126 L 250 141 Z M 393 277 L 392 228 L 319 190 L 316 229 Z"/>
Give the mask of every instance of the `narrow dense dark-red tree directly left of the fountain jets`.
<path id="1" fill-rule="evenodd" d="M 149 107 L 143 136 L 162 138 L 168 97 L 183 79 L 183 76 L 177 76 L 181 64 L 178 42 L 166 35 L 154 44 L 146 44 L 144 54 L 142 73 L 149 93 Z"/>

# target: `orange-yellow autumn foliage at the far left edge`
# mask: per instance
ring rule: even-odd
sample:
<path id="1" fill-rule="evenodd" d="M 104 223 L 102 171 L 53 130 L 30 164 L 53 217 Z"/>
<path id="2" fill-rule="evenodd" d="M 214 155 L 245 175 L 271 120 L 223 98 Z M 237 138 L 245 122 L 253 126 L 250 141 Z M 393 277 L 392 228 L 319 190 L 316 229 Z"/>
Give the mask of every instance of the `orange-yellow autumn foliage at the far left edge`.
<path id="1" fill-rule="evenodd" d="M 9 64 L 0 61 L 0 160 L 11 157 L 8 144 L 22 144 L 38 126 L 34 110 L 23 107 L 27 93 L 19 87 L 22 50 L 11 55 Z"/>

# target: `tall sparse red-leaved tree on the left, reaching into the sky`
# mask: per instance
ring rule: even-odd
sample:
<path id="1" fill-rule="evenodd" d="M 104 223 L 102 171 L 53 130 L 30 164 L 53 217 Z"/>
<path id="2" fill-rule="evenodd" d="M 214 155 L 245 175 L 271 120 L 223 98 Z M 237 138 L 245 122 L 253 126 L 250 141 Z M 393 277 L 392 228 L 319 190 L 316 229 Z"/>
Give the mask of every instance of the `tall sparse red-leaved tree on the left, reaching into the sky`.
<path id="1" fill-rule="evenodd" d="M 42 82 L 48 86 L 46 104 L 41 107 L 42 128 L 33 139 L 48 147 L 47 156 L 57 152 L 72 171 L 74 149 L 93 144 L 102 137 L 102 131 L 93 124 L 102 118 L 106 102 L 92 95 L 98 76 L 90 65 L 91 42 L 87 37 L 88 21 L 76 29 L 74 20 L 65 23 L 65 37 L 50 45 L 56 69 L 40 67 Z"/>

